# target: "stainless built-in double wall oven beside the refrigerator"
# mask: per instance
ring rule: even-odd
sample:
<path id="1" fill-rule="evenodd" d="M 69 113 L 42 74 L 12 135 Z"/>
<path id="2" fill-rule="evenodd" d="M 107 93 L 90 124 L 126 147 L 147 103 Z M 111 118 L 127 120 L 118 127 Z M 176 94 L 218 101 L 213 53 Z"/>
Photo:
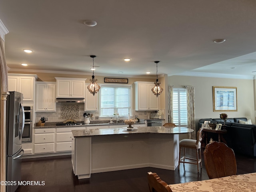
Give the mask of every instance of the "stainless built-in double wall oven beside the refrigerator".
<path id="1" fill-rule="evenodd" d="M 22 142 L 32 142 L 33 107 L 24 106 L 25 125 L 22 134 Z"/>

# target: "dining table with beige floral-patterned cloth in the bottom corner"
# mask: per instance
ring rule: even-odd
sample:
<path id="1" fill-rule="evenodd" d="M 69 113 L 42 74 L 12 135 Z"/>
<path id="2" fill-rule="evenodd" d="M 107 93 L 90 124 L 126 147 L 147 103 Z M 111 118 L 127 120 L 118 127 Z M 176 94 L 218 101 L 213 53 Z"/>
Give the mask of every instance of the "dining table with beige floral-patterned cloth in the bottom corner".
<path id="1" fill-rule="evenodd" d="M 172 192 L 256 192 L 256 173 L 168 185 Z"/>

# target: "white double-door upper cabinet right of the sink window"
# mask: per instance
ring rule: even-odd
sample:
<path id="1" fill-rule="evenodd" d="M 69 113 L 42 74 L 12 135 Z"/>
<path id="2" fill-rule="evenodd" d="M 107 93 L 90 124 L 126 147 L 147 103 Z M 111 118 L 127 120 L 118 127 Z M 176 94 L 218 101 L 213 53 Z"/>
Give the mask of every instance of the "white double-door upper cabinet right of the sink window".
<path id="1" fill-rule="evenodd" d="M 135 84 L 135 110 L 159 110 L 159 97 L 156 97 L 151 89 L 154 82 L 136 81 Z"/>

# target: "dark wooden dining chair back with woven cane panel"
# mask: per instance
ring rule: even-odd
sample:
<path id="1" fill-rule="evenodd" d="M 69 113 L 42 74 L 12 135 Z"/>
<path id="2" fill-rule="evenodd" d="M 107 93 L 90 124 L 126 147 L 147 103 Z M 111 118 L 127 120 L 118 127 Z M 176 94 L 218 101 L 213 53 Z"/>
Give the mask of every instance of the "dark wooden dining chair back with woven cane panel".
<path id="1" fill-rule="evenodd" d="M 234 151 L 226 144 L 212 142 L 204 150 L 204 163 L 210 179 L 236 174 L 236 158 Z"/>

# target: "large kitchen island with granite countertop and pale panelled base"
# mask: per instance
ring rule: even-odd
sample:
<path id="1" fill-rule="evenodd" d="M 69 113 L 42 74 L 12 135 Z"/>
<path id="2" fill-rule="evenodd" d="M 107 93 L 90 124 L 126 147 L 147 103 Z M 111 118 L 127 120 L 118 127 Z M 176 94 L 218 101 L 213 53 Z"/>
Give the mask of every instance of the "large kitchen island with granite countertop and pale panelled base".
<path id="1" fill-rule="evenodd" d="M 178 166 L 179 134 L 184 127 L 164 126 L 72 130 L 72 165 L 78 179 L 91 173 L 154 167 L 175 170 Z"/>

